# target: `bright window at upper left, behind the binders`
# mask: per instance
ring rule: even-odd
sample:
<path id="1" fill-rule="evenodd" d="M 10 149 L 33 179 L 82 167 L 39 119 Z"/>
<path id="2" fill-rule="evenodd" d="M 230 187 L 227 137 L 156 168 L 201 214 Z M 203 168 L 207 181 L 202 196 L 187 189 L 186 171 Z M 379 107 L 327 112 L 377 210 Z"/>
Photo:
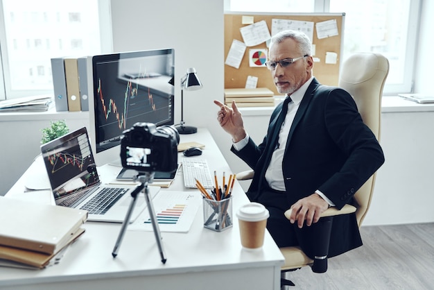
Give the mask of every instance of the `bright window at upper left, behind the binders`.
<path id="1" fill-rule="evenodd" d="M 111 52 L 109 6 L 0 0 L 0 100 L 53 92 L 51 58 Z"/>

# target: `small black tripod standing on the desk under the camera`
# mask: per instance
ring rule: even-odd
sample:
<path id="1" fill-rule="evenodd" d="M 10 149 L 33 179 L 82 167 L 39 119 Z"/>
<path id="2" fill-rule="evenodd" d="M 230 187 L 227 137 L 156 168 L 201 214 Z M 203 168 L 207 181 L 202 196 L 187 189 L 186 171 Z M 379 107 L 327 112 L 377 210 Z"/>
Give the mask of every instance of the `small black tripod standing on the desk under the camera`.
<path id="1" fill-rule="evenodd" d="M 125 219 L 122 223 L 121 232 L 119 232 L 118 239 L 116 240 L 116 244 L 114 245 L 114 249 L 112 252 L 113 257 L 116 257 L 118 255 L 118 250 L 121 247 L 122 239 L 123 239 L 123 236 L 125 235 L 125 230 L 127 229 L 128 223 L 130 222 L 132 210 L 134 210 L 134 206 L 136 205 L 137 195 L 140 193 L 140 191 L 144 190 L 145 200 L 146 200 L 146 204 L 148 205 L 148 210 L 149 210 L 150 221 L 152 222 L 153 230 L 154 230 L 154 234 L 155 234 L 155 239 L 157 240 L 159 255 L 162 258 L 162 263 L 166 264 L 167 259 L 164 256 L 164 249 L 163 249 L 163 245 L 162 245 L 162 235 L 159 232 L 159 227 L 158 227 L 158 223 L 157 223 L 157 220 L 155 217 L 155 211 L 154 211 L 153 203 L 150 200 L 149 190 L 148 190 L 148 183 L 153 182 L 154 174 L 155 174 L 155 172 L 145 172 L 145 173 L 140 172 L 136 177 L 137 180 L 139 180 L 139 182 L 141 184 L 137 185 L 137 187 L 131 192 L 132 201 L 130 203 L 130 207 L 128 207 L 128 212 L 127 212 Z"/>

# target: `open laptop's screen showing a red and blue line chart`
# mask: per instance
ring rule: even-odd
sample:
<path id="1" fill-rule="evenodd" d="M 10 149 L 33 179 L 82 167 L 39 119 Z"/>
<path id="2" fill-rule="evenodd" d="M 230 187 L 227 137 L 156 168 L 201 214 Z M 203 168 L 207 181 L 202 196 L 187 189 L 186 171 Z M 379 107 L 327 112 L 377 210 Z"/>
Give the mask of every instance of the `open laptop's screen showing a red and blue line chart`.
<path id="1" fill-rule="evenodd" d="M 56 203 L 99 184 L 85 127 L 43 144 L 41 151 Z"/>

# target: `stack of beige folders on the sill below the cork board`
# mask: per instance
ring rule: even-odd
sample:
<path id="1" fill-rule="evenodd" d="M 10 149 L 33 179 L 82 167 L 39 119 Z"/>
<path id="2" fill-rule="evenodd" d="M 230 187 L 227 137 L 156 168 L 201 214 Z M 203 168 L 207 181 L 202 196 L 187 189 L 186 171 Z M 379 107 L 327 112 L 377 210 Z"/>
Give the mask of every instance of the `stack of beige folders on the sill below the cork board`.
<path id="1" fill-rule="evenodd" d="M 225 89 L 225 104 L 236 101 L 238 107 L 274 107 L 274 93 L 266 87 L 256 89 Z"/>

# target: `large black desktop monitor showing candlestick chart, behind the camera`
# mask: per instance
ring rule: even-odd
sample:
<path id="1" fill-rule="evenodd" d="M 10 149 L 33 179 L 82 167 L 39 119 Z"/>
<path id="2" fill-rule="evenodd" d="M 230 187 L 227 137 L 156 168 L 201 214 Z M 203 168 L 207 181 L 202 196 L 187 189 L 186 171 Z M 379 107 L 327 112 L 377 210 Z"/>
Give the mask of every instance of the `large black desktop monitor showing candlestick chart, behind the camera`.
<path id="1" fill-rule="evenodd" d="M 174 61 L 173 49 L 88 58 L 89 139 L 97 166 L 121 166 L 121 136 L 134 123 L 173 125 Z"/>

